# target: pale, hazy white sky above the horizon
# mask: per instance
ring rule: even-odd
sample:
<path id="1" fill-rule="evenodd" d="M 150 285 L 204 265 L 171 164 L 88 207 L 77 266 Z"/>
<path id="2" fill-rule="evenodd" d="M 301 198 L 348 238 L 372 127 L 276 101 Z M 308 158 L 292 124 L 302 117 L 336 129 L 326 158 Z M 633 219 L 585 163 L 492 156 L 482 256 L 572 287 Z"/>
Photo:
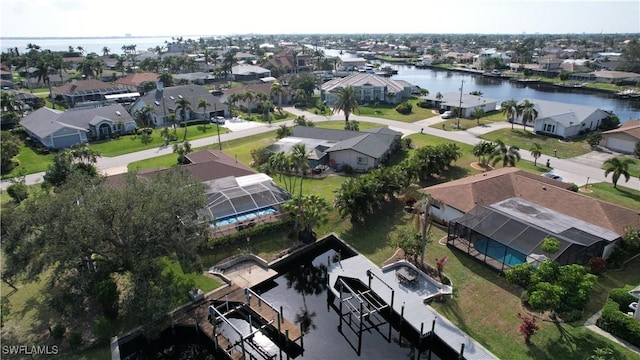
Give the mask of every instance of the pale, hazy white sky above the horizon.
<path id="1" fill-rule="evenodd" d="M 640 0 L 0 0 L 0 37 L 640 33 Z"/>

